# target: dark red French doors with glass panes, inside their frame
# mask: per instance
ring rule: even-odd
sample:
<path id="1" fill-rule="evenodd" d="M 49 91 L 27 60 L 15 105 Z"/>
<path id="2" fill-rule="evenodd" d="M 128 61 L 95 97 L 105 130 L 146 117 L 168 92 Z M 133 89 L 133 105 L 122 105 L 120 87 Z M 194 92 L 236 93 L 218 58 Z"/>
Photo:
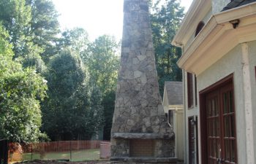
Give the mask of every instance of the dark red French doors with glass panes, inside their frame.
<path id="1" fill-rule="evenodd" d="M 208 93 L 205 101 L 208 164 L 237 163 L 236 115 L 232 83 Z"/>

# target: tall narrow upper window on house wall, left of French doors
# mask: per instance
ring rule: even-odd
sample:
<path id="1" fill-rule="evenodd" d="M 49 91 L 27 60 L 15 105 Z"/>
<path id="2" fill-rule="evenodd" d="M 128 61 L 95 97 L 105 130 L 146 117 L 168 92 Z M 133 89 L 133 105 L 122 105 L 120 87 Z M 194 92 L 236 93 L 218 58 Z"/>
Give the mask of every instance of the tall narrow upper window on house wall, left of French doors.
<path id="1" fill-rule="evenodd" d="M 187 72 L 187 104 L 189 108 L 194 106 L 193 74 Z"/>

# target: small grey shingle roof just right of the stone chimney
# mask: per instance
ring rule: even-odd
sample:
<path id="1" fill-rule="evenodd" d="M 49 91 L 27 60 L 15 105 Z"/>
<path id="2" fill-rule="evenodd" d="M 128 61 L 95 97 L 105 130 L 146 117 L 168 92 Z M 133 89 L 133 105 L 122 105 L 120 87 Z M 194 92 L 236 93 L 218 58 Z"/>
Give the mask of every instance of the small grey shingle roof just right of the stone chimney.
<path id="1" fill-rule="evenodd" d="M 165 82 L 169 105 L 183 104 L 182 82 Z"/>

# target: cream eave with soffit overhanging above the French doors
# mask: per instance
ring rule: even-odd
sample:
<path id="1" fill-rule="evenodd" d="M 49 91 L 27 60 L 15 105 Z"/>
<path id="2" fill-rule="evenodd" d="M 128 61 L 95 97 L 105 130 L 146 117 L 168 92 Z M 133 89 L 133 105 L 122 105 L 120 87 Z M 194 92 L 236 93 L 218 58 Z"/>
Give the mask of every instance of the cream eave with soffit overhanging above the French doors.
<path id="1" fill-rule="evenodd" d="M 236 29 L 230 20 L 239 19 Z M 178 66 L 188 72 L 200 74 L 238 43 L 256 39 L 256 3 L 230 9 L 213 15 L 194 39 Z"/>

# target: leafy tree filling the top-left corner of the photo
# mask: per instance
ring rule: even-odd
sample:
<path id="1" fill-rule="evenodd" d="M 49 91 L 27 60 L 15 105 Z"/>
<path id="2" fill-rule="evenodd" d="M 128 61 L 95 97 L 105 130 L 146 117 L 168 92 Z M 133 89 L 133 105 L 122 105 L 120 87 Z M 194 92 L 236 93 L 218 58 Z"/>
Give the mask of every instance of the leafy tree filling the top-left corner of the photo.
<path id="1" fill-rule="evenodd" d="M 1 0 L 0 20 L 10 34 L 10 42 L 15 58 L 28 53 L 31 46 L 31 8 L 25 0 Z"/>

